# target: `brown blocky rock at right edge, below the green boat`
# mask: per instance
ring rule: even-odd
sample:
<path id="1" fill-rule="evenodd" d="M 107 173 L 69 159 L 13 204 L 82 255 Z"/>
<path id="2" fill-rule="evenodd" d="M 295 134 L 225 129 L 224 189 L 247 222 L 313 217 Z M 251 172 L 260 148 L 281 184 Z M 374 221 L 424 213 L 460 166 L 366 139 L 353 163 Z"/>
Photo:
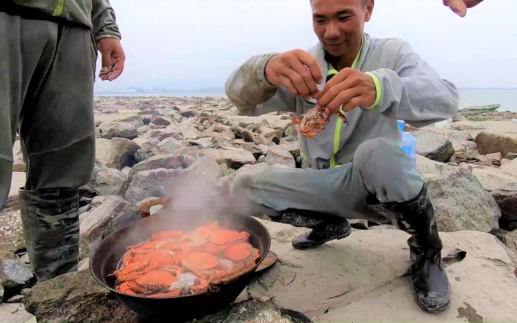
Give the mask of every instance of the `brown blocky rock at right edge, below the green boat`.
<path id="1" fill-rule="evenodd" d="M 476 136 L 481 155 L 500 152 L 506 158 L 508 152 L 517 152 L 517 133 L 502 131 L 481 131 Z"/>

